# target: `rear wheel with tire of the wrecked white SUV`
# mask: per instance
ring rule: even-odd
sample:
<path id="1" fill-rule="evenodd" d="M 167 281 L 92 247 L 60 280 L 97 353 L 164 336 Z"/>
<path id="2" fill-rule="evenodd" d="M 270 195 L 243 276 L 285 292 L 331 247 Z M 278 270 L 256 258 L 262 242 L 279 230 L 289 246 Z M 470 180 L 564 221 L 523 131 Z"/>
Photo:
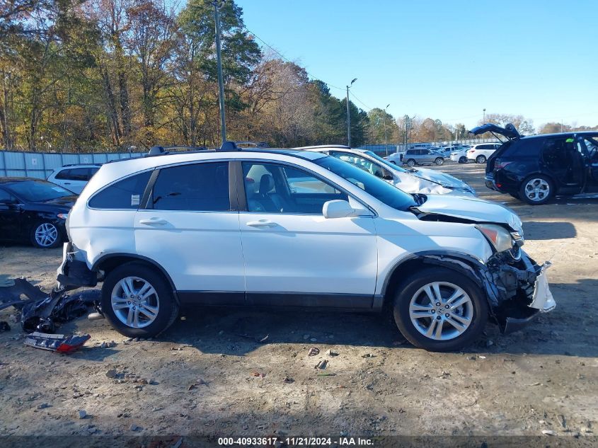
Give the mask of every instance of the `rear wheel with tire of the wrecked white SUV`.
<path id="1" fill-rule="evenodd" d="M 147 289 L 145 294 L 149 295 L 145 299 L 138 297 L 135 293 L 146 289 L 146 285 L 153 288 L 154 293 Z M 125 287 L 133 289 L 133 297 L 126 297 Z M 115 330 L 130 338 L 153 338 L 171 326 L 178 316 L 178 303 L 171 285 L 161 272 L 138 262 L 110 271 L 102 286 L 101 306 Z"/>

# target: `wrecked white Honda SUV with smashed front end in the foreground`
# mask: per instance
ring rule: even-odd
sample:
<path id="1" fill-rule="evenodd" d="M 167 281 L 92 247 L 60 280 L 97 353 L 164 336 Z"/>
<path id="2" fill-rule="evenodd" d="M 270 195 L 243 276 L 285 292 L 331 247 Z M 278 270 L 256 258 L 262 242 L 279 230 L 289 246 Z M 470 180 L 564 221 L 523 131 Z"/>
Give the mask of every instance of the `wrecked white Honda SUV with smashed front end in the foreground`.
<path id="1" fill-rule="evenodd" d="M 512 331 L 555 304 L 521 221 L 473 197 L 408 195 L 333 156 L 233 149 L 105 163 L 69 212 L 60 287 L 103 281 L 124 335 L 182 305 L 391 312 L 427 350 Z"/>

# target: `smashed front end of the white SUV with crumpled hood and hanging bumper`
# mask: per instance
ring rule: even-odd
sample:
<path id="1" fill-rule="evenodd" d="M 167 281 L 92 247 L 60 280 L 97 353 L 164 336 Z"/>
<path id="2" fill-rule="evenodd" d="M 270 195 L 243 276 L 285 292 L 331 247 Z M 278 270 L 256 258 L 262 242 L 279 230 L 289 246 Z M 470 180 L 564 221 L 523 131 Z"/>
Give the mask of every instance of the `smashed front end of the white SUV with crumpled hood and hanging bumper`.
<path id="1" fill-rule="evenodd" d="M 415 207 L 418 218 L 473 224 L 493 248 L 493 254 L 476 263 L 432 258 L 442 259 L 442 263 L 459 263 L 461 270 L 466 270 L 472 280 L 483 287 L 490 305 L 490 318 L 498 323 L 502 333 L 517 331 L 537 314 L 552 311 L 556 302 L 546 278 L 551 263 L 546 261 L 539 265 L 522 249 L 524 235 L 517 214 L 488 201 L 472 199 L 471 207 L 451 207 L 447 200 L 450 201 L 443 197 L 443 205 L 439 207 L 439 199 L 428 196 L 422 205 Z"/>

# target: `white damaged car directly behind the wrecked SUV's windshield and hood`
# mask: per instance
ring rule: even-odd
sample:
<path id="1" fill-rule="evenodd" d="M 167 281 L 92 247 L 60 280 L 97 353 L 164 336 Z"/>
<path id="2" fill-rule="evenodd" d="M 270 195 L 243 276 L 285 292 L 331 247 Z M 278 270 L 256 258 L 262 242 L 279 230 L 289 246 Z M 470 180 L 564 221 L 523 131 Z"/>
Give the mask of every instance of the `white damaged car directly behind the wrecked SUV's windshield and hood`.
<path id="1" fill-rule="evenodd" d="M 406 193 L 423 193 L 432 195 L 475 196 L 476 192 L 462 180 L 447 173 L 429 168 L 401 168 L 382 159 L 372 151 L 353 149 L 344 145 L 321 145 L 302 147 L 307 151 L 317 151 L 336 157 L 342 161 L 386 180 Z"/>

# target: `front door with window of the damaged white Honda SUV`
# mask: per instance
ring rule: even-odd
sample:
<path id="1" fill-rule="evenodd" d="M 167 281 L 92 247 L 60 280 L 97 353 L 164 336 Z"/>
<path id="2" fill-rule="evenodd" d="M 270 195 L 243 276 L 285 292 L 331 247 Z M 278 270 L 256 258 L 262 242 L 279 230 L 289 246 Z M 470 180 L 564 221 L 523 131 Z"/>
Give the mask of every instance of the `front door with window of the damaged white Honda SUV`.
<path id="1" fill-rule="evenodd" d="M 369 308 L 376 287 L 372 217 L 326 219 L 347 194 L 284 163 L 241 163 L 239 213 L 248 304 Z"/>

